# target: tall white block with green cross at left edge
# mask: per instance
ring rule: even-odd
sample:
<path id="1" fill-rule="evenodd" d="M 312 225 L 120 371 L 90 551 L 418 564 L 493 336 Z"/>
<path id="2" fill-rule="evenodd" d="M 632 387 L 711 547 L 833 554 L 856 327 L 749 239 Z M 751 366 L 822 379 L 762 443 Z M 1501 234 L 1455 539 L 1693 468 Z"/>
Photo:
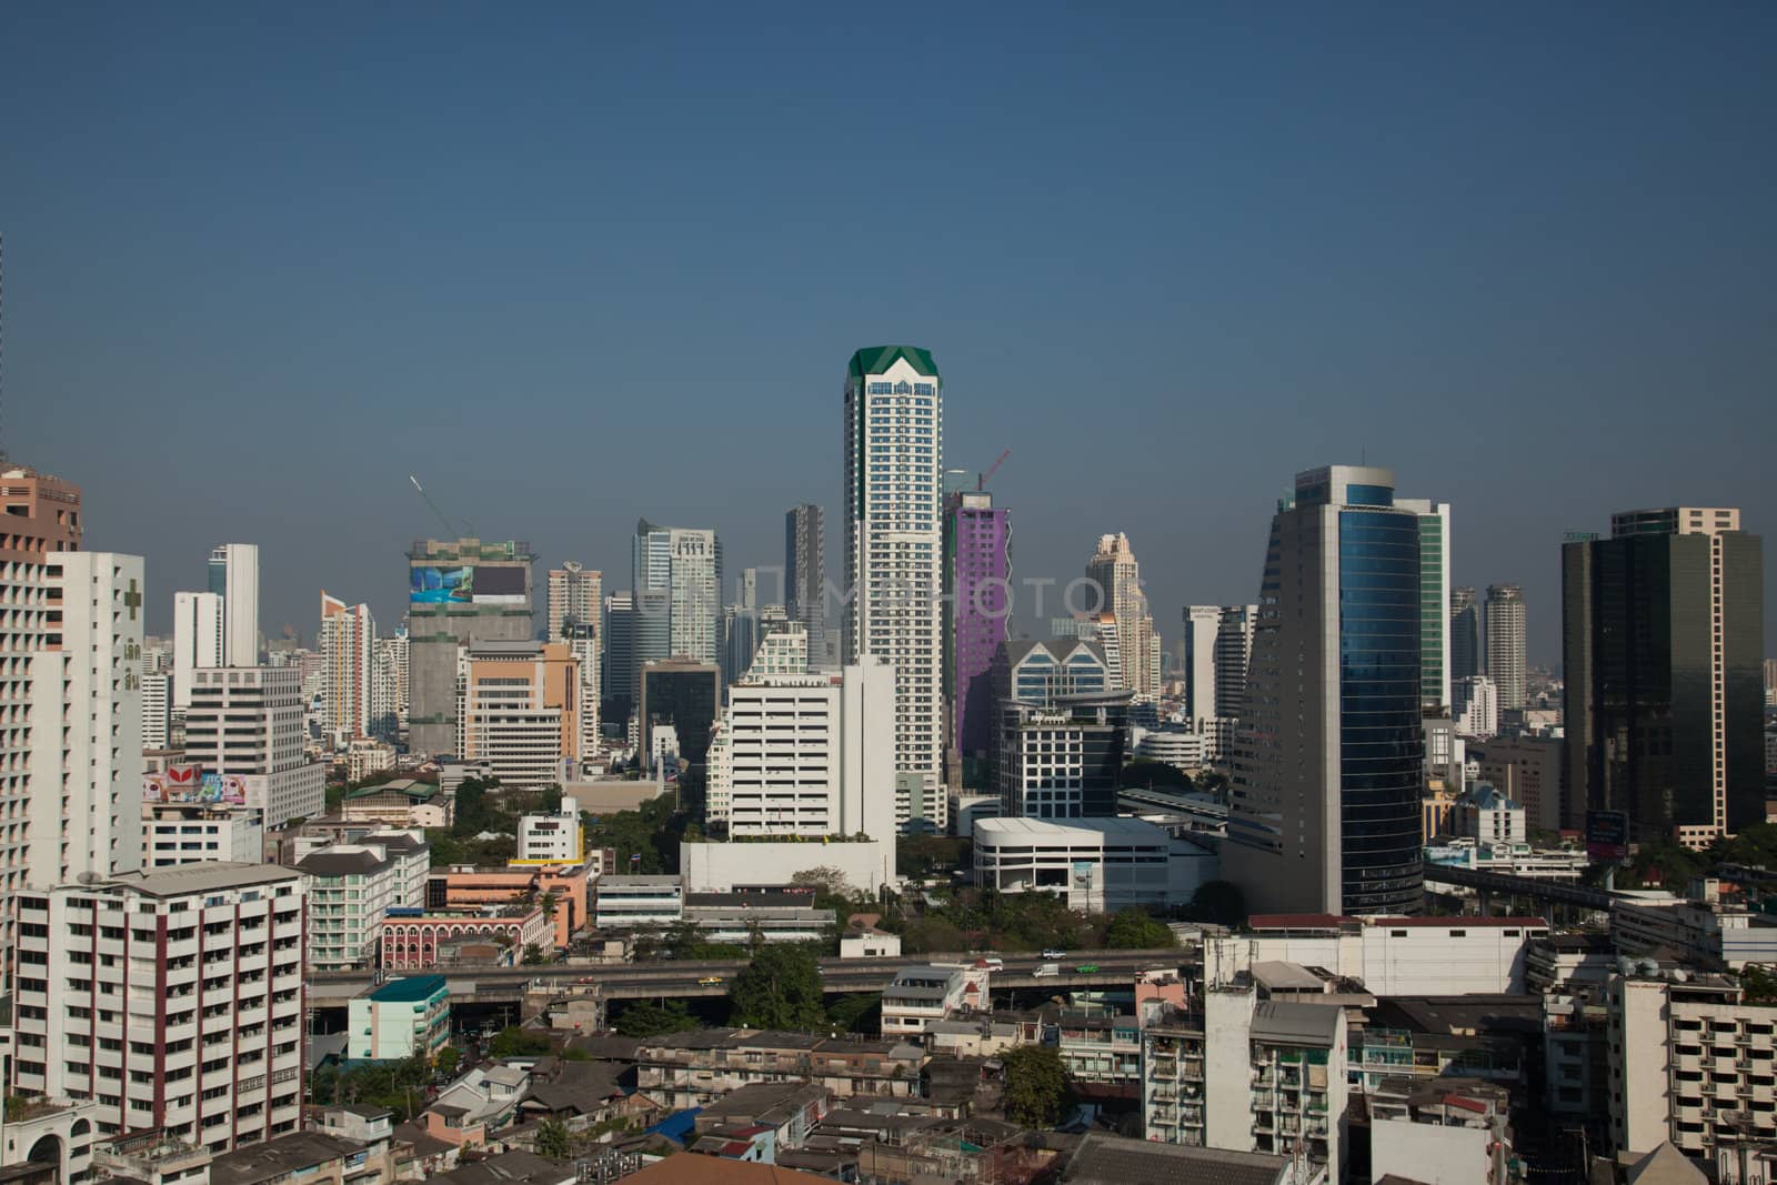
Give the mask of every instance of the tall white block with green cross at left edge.
<path id="1" fill-rule="evenodd" d="M 68 553 L 43 588 L 60 625 L 32 659 L 34 887 L 142 867 L 142 560 Z"/>

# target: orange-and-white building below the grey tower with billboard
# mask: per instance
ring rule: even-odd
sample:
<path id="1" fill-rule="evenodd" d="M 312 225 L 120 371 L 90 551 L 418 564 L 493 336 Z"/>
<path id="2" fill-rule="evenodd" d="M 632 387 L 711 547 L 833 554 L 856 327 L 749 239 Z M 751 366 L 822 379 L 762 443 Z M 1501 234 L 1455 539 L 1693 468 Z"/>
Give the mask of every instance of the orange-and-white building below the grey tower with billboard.
<path id="1" fill-rule="evenodd" d="M 508 787 L 562 780 L 579 762 L 579 661 L 563 641 L 476 641 L 462 650 L 457 753 Z"/>

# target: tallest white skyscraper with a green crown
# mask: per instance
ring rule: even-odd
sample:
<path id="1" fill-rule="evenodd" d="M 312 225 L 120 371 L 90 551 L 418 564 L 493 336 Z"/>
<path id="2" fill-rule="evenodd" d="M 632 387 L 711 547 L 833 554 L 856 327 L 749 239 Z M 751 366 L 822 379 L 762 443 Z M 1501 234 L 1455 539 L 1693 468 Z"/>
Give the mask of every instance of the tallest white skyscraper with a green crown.
<path id="1" fill-rule="evenodd" d="M 844 663 L 896 668 L 896 823 L 945 830 L 944 382 L 928 350 L 873 346 L 846 373 Z"/>

